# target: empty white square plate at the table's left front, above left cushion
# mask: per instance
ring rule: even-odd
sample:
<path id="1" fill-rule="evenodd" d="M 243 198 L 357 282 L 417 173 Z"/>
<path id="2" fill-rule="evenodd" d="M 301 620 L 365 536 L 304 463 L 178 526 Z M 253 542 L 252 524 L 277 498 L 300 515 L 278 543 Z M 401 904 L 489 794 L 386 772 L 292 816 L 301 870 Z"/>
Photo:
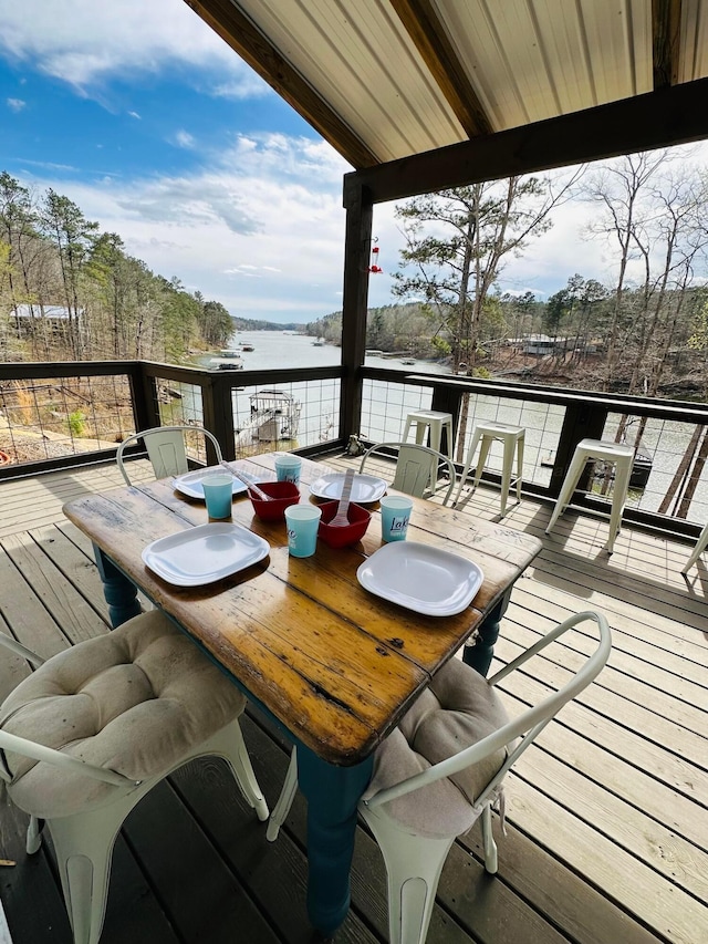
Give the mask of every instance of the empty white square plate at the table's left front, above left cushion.
<path id="1" fill-rule="evenodd" d="M 200 587 L 237 573 L 269 553 L 268 541 L 241 525 L 221 521 L 153 541 L 143 550 L 143 562 L 168 583 Z"/>

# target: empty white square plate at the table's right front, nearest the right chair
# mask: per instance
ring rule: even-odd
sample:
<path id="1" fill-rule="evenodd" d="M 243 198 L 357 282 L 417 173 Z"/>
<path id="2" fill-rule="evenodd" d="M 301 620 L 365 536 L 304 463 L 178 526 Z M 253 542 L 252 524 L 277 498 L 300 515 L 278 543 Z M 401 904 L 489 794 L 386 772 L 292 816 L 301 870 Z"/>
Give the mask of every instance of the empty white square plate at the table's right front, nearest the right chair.
<path id="1" fill-rule="evenodd" d="M 461 613 L 485 579 L 472 561 L 416 541 L 384 544 L 356 577 L 371 593 L 426 616 Z"/>

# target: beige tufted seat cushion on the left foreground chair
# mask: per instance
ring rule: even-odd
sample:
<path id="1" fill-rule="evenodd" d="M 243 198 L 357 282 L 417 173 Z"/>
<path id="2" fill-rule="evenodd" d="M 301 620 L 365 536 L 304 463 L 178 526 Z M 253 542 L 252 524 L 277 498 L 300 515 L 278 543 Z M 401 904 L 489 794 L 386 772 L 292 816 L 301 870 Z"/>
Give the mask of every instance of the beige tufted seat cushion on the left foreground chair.
<path id="1" fill-rule="evenodd" d="M 134 780 L 167 772 L 238 717 L 244 696 L 158 610 L 50 658 L 0 706 L 0 727 Z M 34 816 L 69 816 L 115 789 L 4 751 L 8 791 Z"/>

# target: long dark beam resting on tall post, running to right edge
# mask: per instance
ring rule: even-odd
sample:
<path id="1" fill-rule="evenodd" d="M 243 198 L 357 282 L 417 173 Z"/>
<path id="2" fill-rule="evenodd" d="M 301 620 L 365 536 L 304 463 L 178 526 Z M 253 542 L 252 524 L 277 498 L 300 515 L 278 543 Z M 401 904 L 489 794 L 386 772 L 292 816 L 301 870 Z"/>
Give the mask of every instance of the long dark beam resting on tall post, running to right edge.
<path id="1" fill-rule="evenodd" d="M 344 175 L 374 204 L 708 138 L 708 79 L 623 98 Z"/>

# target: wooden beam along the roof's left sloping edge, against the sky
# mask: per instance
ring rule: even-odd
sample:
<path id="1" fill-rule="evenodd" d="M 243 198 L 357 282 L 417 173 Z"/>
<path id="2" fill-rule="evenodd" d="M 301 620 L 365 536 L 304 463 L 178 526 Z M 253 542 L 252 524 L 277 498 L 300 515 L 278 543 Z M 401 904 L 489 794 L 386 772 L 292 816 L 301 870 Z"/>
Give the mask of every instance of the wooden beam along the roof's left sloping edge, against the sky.
<path id="1" fill-rule="evenodd" d="M 379 163 L 378 157 L 283 59 L 275 46 L 236 6 L 236 2 L 232 0 L 185 0 L 185 2 L 352 166 L 372 167 Z"/>

